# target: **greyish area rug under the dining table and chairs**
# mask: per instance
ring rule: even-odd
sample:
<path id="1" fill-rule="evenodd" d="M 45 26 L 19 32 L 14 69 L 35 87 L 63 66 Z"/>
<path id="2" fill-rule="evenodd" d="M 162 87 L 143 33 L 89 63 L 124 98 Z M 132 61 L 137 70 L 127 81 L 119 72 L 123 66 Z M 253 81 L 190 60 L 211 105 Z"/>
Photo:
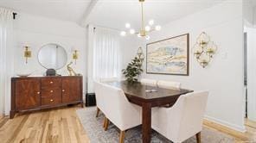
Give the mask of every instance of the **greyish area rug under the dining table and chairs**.
<path id="1" fill-rule="evenodd" d="M 104 131 L 103 120 L 104 115 L 96 115 L 96 108 L 78 109 L 77 115 L 83 125 L 86 134 L 91 143 L 118 143 L 119 129 L 110 123 L 107 131 Z M 125 132 L 125 143 L 141 143 L 142 142 L 141 126 L 134 127 Z M 217 130 L 206 127 L 202 129 L 202 143 L 233 143 L 234 138 L 227 134 L 222 134 Z M 170 140 L 152 130 L 151 143 L 171 143 Z M 184 143 L 196 143 L 195 136 L 185 140 Z"/>

